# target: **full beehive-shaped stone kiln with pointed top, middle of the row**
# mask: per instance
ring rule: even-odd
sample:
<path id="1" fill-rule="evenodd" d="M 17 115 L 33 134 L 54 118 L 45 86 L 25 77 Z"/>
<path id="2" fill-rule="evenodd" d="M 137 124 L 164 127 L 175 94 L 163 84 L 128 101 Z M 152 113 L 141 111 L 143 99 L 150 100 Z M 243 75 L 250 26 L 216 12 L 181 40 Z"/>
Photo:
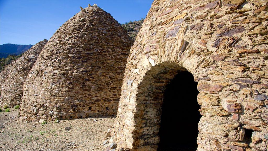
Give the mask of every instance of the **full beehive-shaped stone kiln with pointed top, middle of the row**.
<path id="1" fill-rule="evenodd" d="M 21 118 L 115 115 L 132 42 L 98 6 L 81 8 L 51 37 L 24 85 Z"/>

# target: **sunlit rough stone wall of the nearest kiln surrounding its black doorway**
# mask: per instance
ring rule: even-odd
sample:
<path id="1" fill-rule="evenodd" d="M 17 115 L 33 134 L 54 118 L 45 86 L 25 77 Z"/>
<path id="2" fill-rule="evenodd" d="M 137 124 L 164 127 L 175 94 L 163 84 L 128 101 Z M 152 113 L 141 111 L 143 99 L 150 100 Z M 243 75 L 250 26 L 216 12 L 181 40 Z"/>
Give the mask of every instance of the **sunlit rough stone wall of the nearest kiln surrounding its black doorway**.
<path id="1" fill-rule="evenodd" d="M 117 148 L 157 150 L 163 92 L 188 70 L 202 105 L 198 150 L 267 150 L 267 2 L 155 0 L 127 60 Z"/>

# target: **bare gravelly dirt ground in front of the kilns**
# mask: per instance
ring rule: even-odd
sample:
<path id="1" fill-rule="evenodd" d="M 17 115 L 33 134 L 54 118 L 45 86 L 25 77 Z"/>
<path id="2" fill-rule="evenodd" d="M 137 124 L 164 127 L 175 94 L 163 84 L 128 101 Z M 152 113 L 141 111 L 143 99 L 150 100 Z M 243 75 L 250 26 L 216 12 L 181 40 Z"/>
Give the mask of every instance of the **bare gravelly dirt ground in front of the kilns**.
<path id="1" fill-rule="evenodd" d="M 0 112 L 0 151 L 101 151 L 104 132 L 113 127 L 115 118 L 51 121 L 42 125 L 20 121 L 18 112 L 19 109 Z M 64 130 L 65 127 L 71 129 Z"/>

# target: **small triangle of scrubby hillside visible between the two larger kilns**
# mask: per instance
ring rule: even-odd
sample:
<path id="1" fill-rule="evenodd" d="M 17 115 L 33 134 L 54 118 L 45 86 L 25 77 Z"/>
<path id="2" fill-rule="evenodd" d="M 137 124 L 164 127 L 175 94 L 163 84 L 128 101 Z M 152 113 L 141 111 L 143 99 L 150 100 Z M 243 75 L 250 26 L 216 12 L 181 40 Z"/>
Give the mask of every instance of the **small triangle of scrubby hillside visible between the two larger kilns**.
<path id="1" fill-rule="evenodd" d="M 131 37 L 133 41 L 135 41 L 135 38 L 140 30 L 140 27 L 142 27 L 143 18 L 138 21 L 129 21 L 124 24 L 121 24 L 123 28 L 125 28 L 128 31 L 128 35 Z"/>

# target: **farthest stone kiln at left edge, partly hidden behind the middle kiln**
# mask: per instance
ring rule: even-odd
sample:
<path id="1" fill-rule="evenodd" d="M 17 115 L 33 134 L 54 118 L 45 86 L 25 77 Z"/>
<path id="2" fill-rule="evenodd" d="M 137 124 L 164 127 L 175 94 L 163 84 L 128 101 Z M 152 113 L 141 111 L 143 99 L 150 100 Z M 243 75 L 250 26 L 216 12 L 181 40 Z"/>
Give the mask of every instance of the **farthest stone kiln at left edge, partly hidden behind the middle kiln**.
<path id="1" fill-rule="evenodd" d="M 33 45 L 29 50 L 12 62 L 1 74 L 0 106 L 19 105 L 23 93 L 23 84 L 38 55 L 47 43 L 47 39 Z"/>

